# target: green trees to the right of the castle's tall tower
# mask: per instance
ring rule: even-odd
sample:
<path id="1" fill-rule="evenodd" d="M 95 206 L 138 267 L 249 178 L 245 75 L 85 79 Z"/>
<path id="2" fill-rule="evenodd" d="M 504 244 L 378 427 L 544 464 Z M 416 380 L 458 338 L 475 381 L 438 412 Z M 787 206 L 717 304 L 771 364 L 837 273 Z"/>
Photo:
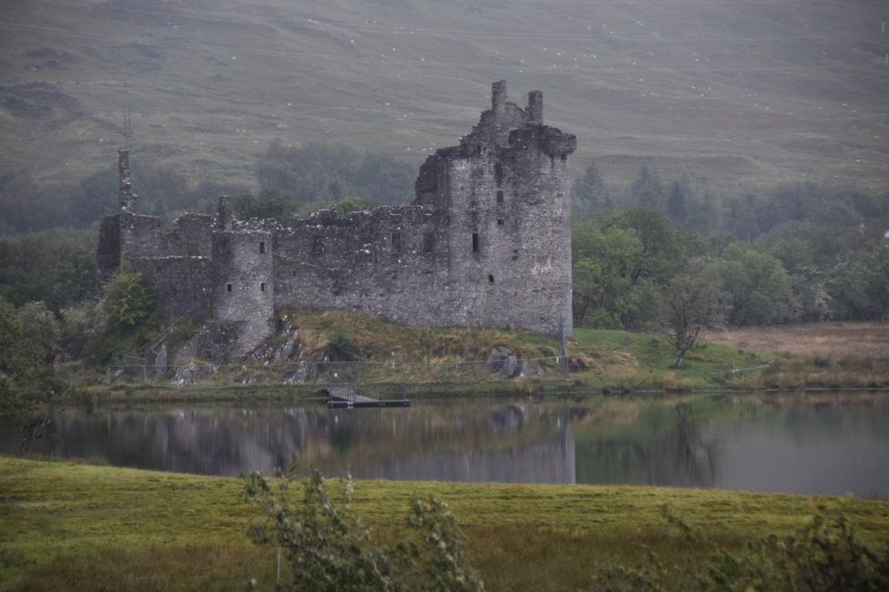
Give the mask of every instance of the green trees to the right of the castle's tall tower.
<path id="1" fill-rule="evenodd" d="M 606 189 L 594 165 L 574 185 L 575 325 L 693 343 L 722 322 L 889 318 L 889 194 L 803 183 L 739 205 L 687 179 L 665 187 L 643 167 L 625 191 Z"/>

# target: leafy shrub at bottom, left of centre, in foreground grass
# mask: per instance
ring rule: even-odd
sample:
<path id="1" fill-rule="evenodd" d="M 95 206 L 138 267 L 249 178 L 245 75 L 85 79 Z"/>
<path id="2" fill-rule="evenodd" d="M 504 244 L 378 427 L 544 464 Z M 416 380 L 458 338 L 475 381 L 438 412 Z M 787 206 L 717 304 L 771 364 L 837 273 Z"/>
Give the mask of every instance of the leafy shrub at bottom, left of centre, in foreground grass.
<path id="1" fill-rule="evenodd" d="M 396 546 L 376 542 L 352 510 L 354 484 L 344 479 L 339 504 L 315 471 L 304 482 L 302 504 L 291 501 L 300 483 L 286 475 L 279 491 L 260 473 L 246 477 L 244 497 L 266 516 L 248 536 L 258 545 L 280 546 L 287 554 L 284 590 L 483 590 L 462 548 L 457 520 L 436 499 L 414 499 Z"/>

